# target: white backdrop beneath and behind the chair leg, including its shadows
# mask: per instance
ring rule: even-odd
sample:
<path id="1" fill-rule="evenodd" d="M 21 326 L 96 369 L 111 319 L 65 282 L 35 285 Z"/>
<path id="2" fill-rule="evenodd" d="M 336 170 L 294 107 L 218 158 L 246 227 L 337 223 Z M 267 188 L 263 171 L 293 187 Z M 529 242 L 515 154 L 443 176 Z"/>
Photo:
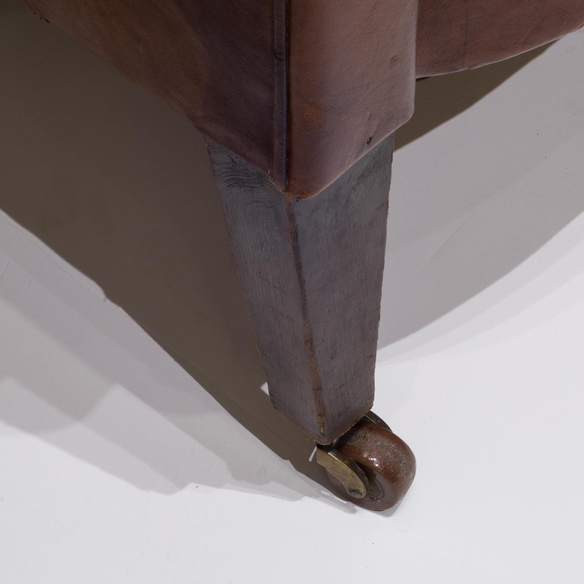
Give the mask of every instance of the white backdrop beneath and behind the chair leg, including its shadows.
<path id="1" fill-rule="evenodd" d="M 584 31 L 419 82 L 376 412 L 344 503 L 272 412 L 201 135 L 0 0 L 6 584 L 584 581 Z"/>

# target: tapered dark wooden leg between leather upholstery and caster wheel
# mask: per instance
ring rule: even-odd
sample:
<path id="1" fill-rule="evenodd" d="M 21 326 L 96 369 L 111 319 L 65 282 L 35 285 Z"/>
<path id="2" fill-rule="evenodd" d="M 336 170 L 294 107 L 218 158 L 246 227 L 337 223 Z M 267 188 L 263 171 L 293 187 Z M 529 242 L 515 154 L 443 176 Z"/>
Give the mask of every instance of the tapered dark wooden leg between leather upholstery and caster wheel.
<path id="1" fill-rule="evenodd" d="M 373 404 L 393 136 L 302 200 L 207 144 L 270 397 L 329 444 Z"/>

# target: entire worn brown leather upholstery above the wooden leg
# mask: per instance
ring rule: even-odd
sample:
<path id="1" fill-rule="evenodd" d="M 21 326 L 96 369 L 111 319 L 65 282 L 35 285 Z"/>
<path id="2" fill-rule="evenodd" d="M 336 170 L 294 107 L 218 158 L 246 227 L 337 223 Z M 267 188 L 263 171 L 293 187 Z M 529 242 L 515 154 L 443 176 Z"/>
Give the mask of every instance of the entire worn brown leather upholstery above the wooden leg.
<path id="1" fill-rule="evenodd" d="M 578 28 L 584 0 L 27 0 L 294 197 L 413 112 L 417 75 Z"/>

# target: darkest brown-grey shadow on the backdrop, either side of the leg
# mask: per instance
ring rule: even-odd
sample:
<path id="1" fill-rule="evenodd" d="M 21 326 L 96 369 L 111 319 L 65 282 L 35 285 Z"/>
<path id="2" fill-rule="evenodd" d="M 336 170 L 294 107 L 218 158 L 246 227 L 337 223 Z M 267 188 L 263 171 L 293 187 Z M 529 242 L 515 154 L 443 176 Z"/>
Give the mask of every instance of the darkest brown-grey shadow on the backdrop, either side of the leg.
<path id="1" fill-rule="evenodd" d="M 0 23 L 0 208 L 94 280 L 249 432 L 326 485 L 308 462 L 311 444 L 260 390 L 265 378 L 203 137 L 56 27 L 26 7 L 7 6 L 12 20 Z M 415 116 L 399 131 L 397 147 L 456 116 L 543 50 L 420 82 Z M 159 396 L 129 389 L 161 408 Z M 42 397 L 53 399 L 46 391 Z M 82 405 L 79 418 L 91 407 Z M 150 463 L 147 453 L 134 454 Z M 253 473 L 246 480 L 253 482 Z M 301 496 L 353 512 L 310 481 Z"/>

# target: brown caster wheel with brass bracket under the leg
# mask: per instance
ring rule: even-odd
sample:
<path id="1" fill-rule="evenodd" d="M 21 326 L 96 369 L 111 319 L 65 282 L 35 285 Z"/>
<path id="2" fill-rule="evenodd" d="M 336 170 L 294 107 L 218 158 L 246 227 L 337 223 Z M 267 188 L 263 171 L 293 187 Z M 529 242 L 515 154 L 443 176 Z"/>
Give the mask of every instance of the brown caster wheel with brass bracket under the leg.
<path id="1" fill-rule="evenodd" d="M 332 444 L 318 446 L 317 462 L 336 493 L 374 511 L 397 505 L 416 474 L 409 446 L 373 412 Z"/>

